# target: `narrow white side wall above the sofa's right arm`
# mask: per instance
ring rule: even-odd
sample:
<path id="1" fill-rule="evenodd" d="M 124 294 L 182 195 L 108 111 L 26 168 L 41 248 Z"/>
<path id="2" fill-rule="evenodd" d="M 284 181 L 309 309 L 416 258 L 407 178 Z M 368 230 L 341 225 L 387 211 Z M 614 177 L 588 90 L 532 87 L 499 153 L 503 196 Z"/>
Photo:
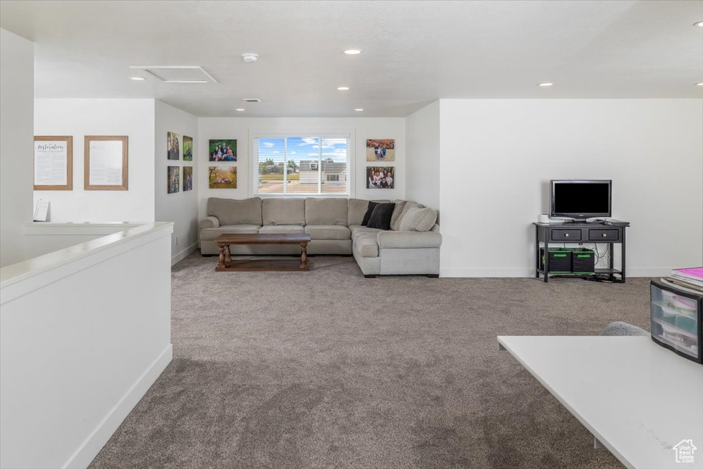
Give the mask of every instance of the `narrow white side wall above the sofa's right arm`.
<path id="1" fill-rule="evenodd" d="M 439 210 L 439 101 L 406 117 L 405 141 L 406 198 Z"/>

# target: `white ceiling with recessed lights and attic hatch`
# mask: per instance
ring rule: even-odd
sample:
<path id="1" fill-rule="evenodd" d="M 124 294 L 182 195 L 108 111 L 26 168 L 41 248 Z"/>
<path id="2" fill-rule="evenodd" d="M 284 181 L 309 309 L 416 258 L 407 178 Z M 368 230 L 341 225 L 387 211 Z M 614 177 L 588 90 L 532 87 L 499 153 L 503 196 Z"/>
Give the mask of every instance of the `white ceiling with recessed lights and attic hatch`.
<path id="1" fill-rule="evenodd" d="M 437 98 L 701 98 L 701 20 L 699 0 L 0 1 L 1 27 L 36 43 L 37 97 L 158 98 L 210 117 L 401 117 Z M 217 83 L 134 82 L 130 65 L 200 65 Z"/>

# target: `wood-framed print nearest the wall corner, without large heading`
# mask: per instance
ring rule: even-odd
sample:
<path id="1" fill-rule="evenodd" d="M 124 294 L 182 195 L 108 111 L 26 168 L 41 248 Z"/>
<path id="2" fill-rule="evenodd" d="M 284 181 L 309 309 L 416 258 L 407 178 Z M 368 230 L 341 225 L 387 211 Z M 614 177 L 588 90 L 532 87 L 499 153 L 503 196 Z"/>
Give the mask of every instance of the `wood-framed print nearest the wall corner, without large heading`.
<path id="1" fill-rule="evenodd" d="M 86 135 L 86 191 L 127 191 L 127 136 Z"/>

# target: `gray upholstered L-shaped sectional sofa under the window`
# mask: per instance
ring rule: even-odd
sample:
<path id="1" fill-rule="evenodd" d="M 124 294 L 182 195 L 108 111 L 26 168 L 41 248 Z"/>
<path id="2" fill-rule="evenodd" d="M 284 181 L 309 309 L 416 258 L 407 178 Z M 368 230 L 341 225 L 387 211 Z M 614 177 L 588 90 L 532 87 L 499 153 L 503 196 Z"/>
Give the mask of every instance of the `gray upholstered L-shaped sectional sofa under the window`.
<path id="1" fill-rule="evenodd" d="M 375 200 L 388 203 L 389 200 Z M 391 229 L 361 226 L 368 200 L 346 198 L 209 198 L 200 221 L 200 252 L 217 255 L 222 233 L 308 233 L 309 255 L 354 255 L 365 276 L 439 276 L 437 212 L 406 200 L 396 204 Z M 286 245 L 232 245 L 232 255 L 299 255 Z"/>

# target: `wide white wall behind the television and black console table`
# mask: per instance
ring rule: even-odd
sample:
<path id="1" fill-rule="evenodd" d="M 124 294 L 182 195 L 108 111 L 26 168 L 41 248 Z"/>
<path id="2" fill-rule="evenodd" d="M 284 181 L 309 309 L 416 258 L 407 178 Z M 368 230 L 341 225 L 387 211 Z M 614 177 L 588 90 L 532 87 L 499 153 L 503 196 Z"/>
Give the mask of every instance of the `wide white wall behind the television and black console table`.
<path id="1" fill-rule="evenodd" d="M 613 180 L 628 275 L 703 263 L 703 100 L 440 105 L 442 276 L 534 275 L 550 179 Z"/>

